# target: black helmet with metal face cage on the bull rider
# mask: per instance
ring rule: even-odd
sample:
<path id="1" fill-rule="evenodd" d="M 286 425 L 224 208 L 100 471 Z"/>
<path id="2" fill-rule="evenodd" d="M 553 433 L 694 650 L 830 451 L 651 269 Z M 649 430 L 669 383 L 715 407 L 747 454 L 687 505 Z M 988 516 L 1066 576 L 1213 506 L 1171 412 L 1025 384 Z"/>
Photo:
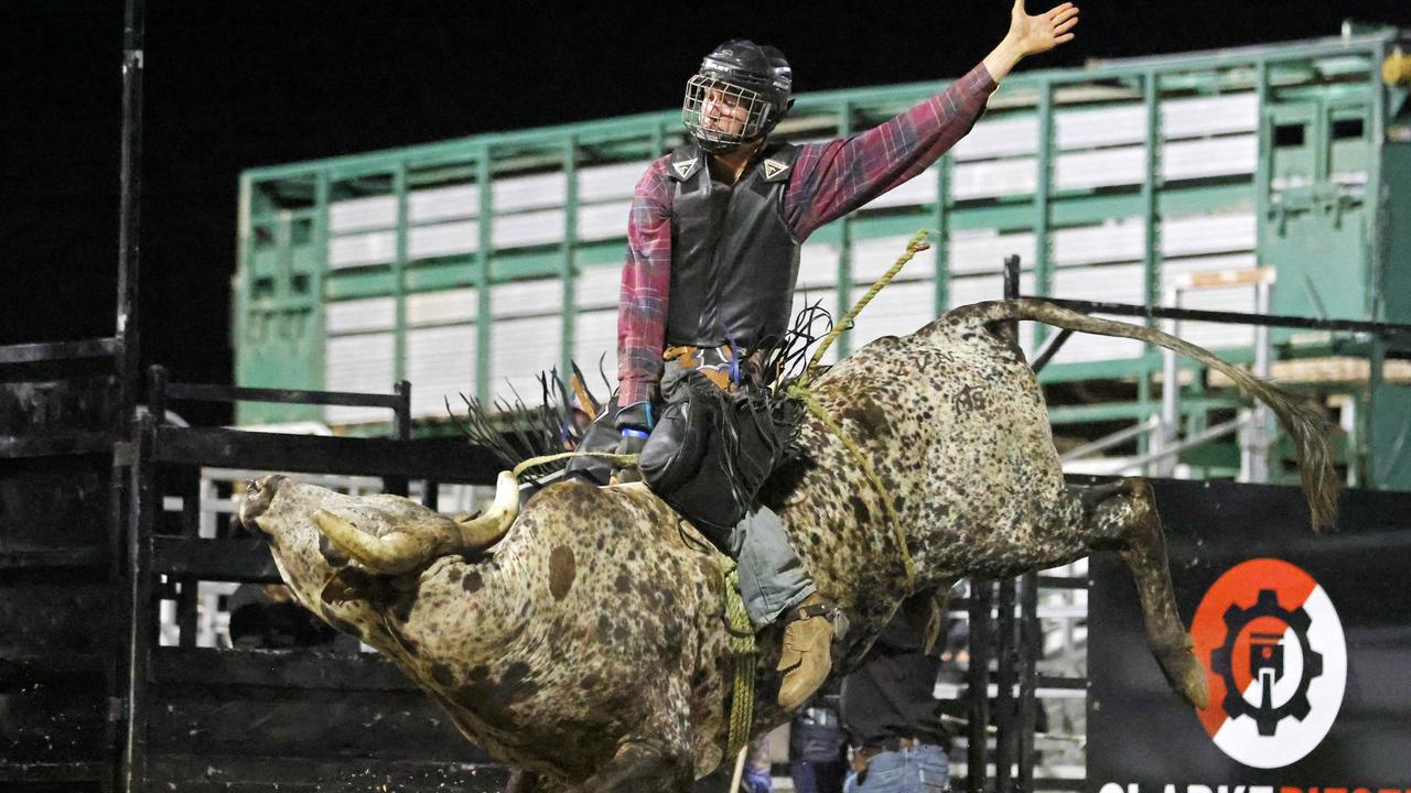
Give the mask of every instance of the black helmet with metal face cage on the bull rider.
<path id="1" fill-rule="evenodd" d="M 728 151 L 769 134 L 793 106 L 792 89 L 793 69 L 783 52 L 742 38 L 727 41 L 686 83 L 682 123 L 703 150 Z M 720 107 L 742 113 L 721 124 Z"/>

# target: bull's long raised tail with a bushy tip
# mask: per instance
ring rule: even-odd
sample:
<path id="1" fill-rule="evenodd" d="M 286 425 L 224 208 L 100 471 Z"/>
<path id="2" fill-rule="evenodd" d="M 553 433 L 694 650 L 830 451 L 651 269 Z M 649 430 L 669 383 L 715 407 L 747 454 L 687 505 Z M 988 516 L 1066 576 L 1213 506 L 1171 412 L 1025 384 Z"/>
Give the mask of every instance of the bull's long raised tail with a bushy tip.
<path id="1" fill-rule="evenodd" d="M 1277 385 L 1218 358 L 1209 350 L 1182 341 L 1170 333 L 1163 333 L 1140 325 L 1098 319 L 1047 301 L 1023 298 L 1017 301 L 991 301 L 958 308 L 941 322 L 959 322 L 971 326 L 991 326 L 999 322 L 1027 319 L 1053 325 L 1065 330 L 1095 333 L 1098 336 L 1120 336 L 1157 344 L 1174 350 L 1188 358 L 1229 377 L 1249 395 L 1270 406 L 1278 416 L 1278 423 L 1294 439 L 1298 450 L 1298 467 L 1302 476 L 1304 495 L 1312 511 L 1314 529 L 1329 526 L 1338 518 L 1338 477 L 1332 468 L 1332 452 L 1328 447 L 1328 419 L 1312 405 Z"/>

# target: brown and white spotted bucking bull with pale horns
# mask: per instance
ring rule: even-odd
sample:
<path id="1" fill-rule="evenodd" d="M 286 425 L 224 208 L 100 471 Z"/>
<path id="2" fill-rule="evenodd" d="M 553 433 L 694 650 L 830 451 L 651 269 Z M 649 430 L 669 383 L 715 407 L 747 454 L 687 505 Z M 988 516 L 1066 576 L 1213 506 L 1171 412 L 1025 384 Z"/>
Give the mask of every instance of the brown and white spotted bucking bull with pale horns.
<path id="1" fill-rule="evenodd" d="M 813 384 L 880 487 L 810 418 L 804 454 L 761 498 L 851 617 L 851 659 L 903 601 L 912 611 L 965 576 L 1015 576 L 1110 549 L 1136 579 L 1167 680 L 1204 706 L 1151 490 L 1141 480 L 1064 483 L 1038 382 L 1003 333 L 1012 320 L 1143 339 L 1228 374 L 1297 440 L 1315 526 L 1333 518 L 1315 411 L 1171 336 L 1027 299 L 959 308 L 912 336 L 879 339 Z M 251 488 L 241 515 L 270 538 L 305 605 L 391 656 L 467 738 L 519 769 L 521 789 L 690 789 L 727 739 L 732 659 L 717 557 L 641 485 L 556 484 L 518 518 L 512 478 L 501 478 L 499 495 L 487 515 L 457 523 L 402 498 L 275 476 Z M 914 562 L 912 591 L 899 536 Z M 773 707 L 779 631 L 759 641 L 763 731 L 787 714 Z"/>

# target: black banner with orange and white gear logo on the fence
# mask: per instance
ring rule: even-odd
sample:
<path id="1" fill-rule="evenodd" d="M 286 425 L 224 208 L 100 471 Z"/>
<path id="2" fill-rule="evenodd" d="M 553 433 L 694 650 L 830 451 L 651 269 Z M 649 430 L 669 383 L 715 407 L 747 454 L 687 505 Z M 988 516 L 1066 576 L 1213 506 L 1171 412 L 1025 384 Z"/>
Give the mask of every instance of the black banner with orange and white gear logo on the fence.
<path id="1" fill-rule="evenodd" d="M 1094 556 L 1086 789 L 1411 789 L 1411 494 L 1348 492 L 1314 533 L 1295 488 L 1153 484 L 1211 703 L 1167 686 L 1132 576 Z"/>

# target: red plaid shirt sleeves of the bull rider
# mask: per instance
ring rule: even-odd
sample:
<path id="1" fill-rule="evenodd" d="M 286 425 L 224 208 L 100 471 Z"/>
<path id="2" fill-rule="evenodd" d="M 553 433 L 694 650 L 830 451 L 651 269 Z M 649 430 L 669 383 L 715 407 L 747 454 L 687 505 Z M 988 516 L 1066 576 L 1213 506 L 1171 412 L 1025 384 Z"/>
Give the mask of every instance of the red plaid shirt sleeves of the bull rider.
<path id="1" fill-rule="evenodd" d="M 940 159 L 971 130 L 995 90 L 985 65 L 916 107 L 865 133 L 799 147 L 785 219 L 800 241 Z M 618 303 L 618 380 L 622 406 L 656 395 L 666 349 L 672 286 L 670 155 L 636 183 L 626 226 L 626 265 Z"/>

